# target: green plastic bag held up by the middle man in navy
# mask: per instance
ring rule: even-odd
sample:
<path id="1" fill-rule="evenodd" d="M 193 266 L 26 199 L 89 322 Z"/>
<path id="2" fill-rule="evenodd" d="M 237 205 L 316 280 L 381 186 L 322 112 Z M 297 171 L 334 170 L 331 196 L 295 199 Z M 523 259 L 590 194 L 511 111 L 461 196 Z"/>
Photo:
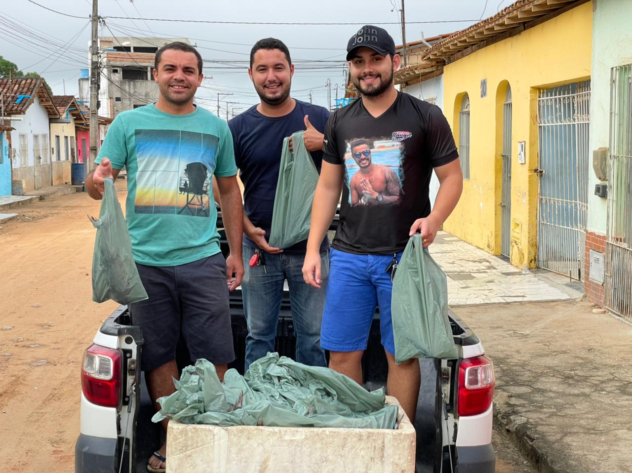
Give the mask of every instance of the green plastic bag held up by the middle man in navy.
<path id="1" fill-rule="evenodd" d="M 306 240 L 310 233 L 312 201 L 319 175 L 312 156 L 305 149 L 303 132 L 292 135 L 292 148 L 290 151 L 289 137 L 285 138 L 272 207 L 271 247 L 291 247 Z"/>

